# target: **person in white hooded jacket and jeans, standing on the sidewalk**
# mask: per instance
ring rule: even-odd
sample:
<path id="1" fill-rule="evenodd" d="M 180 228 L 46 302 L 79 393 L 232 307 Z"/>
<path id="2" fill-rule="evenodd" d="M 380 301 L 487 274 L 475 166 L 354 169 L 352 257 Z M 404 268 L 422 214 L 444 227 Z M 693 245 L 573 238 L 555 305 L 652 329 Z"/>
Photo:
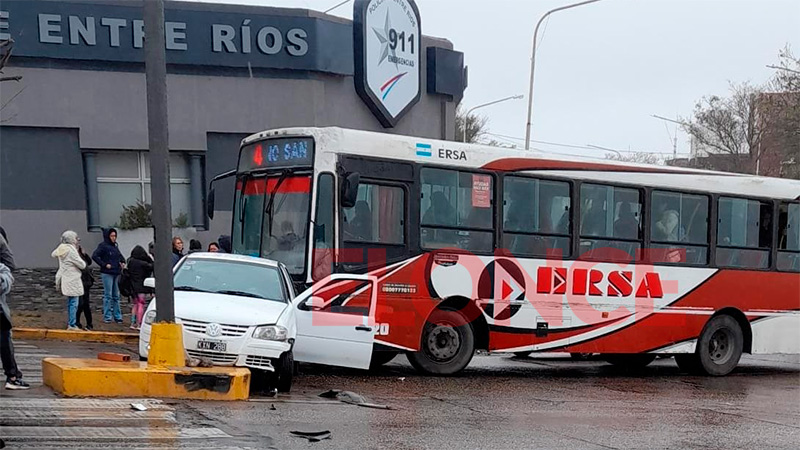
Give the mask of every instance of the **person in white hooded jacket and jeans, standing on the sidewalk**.
<path id="1" fill-rule="evenodd" d="M 58 272 L 56 272 L 56 289 L 67 297 L 68 330 L 80 330 L 77 326 L 78 299 L 83 295 L 83 281 L 81 271 L 86 268 L 78 253 L 78 235 L 74 231 L 65 231 L 61 234 L 61 245 L 50 254 L 58 258 Z"/>

